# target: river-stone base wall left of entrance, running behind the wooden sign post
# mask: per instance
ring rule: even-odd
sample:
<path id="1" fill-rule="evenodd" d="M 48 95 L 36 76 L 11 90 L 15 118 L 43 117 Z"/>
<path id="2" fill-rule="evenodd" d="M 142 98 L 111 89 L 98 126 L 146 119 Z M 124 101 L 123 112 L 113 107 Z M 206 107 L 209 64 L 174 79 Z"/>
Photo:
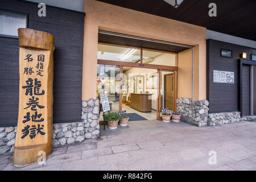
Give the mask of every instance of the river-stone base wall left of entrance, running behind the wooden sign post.
<path id="1" fill-rule="evenodd" d="M 99 100 L 82 101 L 82 122 L 53 124 L 53 147 L 100 136 Z M 0 127 L 0 154 L 14 151 L 17 127 Z"/>

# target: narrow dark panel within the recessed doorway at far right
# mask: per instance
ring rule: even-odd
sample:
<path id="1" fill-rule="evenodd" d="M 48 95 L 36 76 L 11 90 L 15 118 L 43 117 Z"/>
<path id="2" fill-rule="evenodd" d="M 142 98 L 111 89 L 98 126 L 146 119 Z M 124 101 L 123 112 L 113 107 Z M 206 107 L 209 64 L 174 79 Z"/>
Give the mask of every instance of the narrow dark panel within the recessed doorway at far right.
<path id="1" fill-rule="evenodd" d="M 250 65 L 242 66 L 242 114 L 250 115 Z"/>

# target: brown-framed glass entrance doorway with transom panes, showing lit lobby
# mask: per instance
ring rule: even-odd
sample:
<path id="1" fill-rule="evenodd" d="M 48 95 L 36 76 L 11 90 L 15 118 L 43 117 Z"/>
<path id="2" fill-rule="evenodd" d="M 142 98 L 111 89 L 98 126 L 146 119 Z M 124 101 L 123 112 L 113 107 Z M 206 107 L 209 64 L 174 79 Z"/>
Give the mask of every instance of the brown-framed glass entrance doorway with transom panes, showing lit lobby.
<path id="1" fill-rule="evenodd" d="M 97 82 L 112 110 L 138 121 L 162 119 L 163 108 L 176 109 L 176 65 L 176 53 L 98 44 Z"/>

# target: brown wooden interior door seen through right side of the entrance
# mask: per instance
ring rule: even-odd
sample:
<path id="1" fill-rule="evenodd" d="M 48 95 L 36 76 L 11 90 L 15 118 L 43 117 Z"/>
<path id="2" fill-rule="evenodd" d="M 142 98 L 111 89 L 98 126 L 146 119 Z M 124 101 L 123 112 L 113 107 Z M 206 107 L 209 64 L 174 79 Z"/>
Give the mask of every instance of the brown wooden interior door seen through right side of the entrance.
<path id="1" fill-rule="evenodd" d="M 164 108 L 174 111 L 174 74 L 164 75 Z"/>

